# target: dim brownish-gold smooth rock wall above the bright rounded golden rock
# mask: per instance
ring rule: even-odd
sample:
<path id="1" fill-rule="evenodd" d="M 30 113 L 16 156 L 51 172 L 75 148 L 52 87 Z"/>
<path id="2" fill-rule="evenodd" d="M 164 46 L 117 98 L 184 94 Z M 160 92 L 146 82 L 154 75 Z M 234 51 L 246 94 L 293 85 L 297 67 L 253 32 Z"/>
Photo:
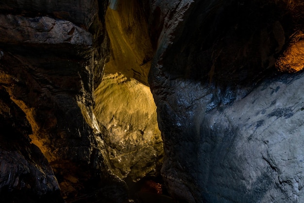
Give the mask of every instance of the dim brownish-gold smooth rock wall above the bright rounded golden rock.
<path id="1" fill-rule="evenodd" d="M 148 84 L 153 48 L 148 32 L 144 1 L 111 1 L 105 15 L 110 45 L 106 73 L 121 73 Z"/>

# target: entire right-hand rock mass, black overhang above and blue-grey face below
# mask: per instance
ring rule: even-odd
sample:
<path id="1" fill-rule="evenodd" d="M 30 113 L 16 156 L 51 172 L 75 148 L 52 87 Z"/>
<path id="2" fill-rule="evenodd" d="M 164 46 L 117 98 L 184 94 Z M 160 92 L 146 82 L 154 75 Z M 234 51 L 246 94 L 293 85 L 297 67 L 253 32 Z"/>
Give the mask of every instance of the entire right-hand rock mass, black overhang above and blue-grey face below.
<path id="1" fill-rule="evenodd" d="M 303 202 L 303 7 L 151 1 L 149 83 L 180 202 Z"/>

